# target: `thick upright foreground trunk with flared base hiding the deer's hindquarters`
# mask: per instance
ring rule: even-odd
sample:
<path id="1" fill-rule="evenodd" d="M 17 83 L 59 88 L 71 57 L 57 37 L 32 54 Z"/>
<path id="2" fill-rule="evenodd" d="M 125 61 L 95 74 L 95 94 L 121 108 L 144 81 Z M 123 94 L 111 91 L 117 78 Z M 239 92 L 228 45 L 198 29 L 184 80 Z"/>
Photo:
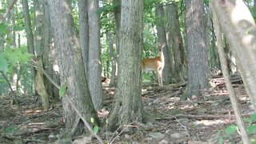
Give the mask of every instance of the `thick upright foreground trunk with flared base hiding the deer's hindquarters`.
<path id="1" fill-rule="evenodd" d="M 120 53 L 118 85 L 114 95 L 114 109 L 110 114 L 110 130 L 119 125 L 142 121 L 141 53 L 142 10 L 141 0 L 122 1 L 120 23 Z"/>

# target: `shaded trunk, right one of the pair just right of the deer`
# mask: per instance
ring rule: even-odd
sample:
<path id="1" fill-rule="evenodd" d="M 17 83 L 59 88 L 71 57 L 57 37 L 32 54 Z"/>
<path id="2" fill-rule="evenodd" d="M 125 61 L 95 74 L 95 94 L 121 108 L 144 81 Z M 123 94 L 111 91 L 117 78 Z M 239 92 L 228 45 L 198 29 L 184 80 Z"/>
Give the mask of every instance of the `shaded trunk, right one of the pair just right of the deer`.
<path id="1" fill-rule="evenodd" d="M 182 58 L 182 53 L 184 52 L 184 47 L 182 44 L 182 34 L 178 20 L 178 6 L 176 3 L 170 3 L 166 8 L 166 17 L 167 17 L 167 41 L 168 46 L 172 50 L 174 57 L 174 80 L 175 82 L 183 81 L 182 74 L 185 72 L 185 66 L 182 64 L 185 60 Z"/>

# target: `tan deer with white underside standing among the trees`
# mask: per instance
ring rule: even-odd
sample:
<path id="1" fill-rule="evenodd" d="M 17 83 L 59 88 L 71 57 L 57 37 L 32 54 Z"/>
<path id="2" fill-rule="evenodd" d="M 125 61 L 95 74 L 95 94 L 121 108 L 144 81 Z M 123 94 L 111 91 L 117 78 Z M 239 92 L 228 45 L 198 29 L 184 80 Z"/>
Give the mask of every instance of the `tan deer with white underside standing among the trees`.
<path id="1" fill-rule="evenodd" d="M 159 45 L 159 54 L 156 58 L 144 58 L 142 59 L 142 72 L 154 70 L 158 75 L 158 84 L 162 86 L 162 70 L 165 66 L 165 58 L 162 52 L 162 48 L 166 45 Z"/>

